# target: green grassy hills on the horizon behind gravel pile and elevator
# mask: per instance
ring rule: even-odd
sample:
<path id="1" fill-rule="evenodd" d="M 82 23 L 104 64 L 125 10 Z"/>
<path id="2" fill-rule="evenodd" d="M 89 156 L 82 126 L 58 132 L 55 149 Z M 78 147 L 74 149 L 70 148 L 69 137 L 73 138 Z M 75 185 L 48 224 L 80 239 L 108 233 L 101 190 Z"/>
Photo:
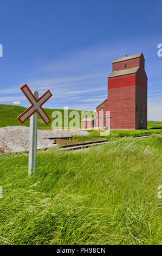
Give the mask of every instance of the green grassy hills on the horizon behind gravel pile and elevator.
<path id="1" fill-rule="evenodd" d="M 25 111 L 25 109 L 26 108 L 22 106 L 0 104 L 0 127 L 22 125 L 20 121 L 17 120 L 17 117 L 23 111 Z M 46 111 L 46 113 L 49 115 L 50 118 L 53 111 L 60 111 L 63 116 L 63 109 L 44 108 L 44 110 Z M 69 113 L 71 111 L 73 111 L 73 109 L 69 109 Z M 81 111 L 78 111 L 78 112 L 81 113 Z M 54 118 L 51 118 L 51 120 L 54 120 Z M 29 126 L 29 120 L 25 121 L 23 125 Z M 80 114 L 80 127 L 81 127 L 81 114 Z M 148 121 L 148 129 L 157 129 L 157 128 L 160 129 L 160 127 L 162 128 L 162 122 Z M 43 120 L 38 115 L 38 129 L 51 129 L 51 123 L 48 125 L 44 124 Z"/>

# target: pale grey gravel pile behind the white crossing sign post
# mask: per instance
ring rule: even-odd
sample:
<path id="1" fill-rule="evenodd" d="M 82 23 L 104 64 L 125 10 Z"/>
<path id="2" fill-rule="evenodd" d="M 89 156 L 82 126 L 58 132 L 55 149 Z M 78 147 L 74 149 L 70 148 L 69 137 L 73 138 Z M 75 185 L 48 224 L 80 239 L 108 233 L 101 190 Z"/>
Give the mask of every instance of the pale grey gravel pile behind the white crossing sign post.
<path id="1" fill-rule="evenodd" d="M 86 131 L 38 131 L 37 149 L 55 147 L 50 137 L 70 137 L 71 135 L 86 136 Z M 0 151 L 21 152 L 29 149 L 29 127 L 7 126 L 0 128 Z"/>

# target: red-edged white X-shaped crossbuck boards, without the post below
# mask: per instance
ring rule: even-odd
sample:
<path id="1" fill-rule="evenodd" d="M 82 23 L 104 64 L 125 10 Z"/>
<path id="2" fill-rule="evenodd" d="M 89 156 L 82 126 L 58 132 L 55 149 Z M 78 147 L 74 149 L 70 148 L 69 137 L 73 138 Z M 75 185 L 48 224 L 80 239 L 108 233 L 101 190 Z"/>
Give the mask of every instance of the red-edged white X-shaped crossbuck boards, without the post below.
<path id="1" fill-rule="evenodd" d="M 44 123 L 48 125 L 51 120 L 42 108 L 42 105 L 52 96 L 50 90 L 44 93 L 38 100 L 31 92 L 27 84 L 22 86 L 21 90 L 30 101 L 31 106 L 28 107 L 21 115 L 19 115 L 17 119 L 23 124 L 29 117 L 31 117 L 31 115 L 33 115 L 35 112 L 38 112 Z"/>

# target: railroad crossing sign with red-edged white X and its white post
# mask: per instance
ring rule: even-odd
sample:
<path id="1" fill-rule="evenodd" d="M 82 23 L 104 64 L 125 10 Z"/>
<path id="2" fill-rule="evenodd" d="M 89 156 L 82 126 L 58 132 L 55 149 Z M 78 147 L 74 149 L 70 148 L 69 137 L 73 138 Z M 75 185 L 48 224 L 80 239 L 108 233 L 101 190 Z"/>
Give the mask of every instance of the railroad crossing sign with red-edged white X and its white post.
<path id="1" fill-rule="evenodd" d="M 42 108 L 42 105 L 52 96 L 50 90 L 44 93 L 38 98 L 38 92 L 35 90 L 33 93 L 25 84 L 20 88 L 30 101 L 31 106 L 28 107 L 21 115 L 18 116 L 18 120 L 23 124 L 30 117 L 30 135 L 29 135 L 29 167 L 28 173 L 31 175 L 31 171 L 36 168 L 36 150 L 37 150 L 37 114 L 43 119 L 44 123 L 48 125 L 50 118 Z"/>

